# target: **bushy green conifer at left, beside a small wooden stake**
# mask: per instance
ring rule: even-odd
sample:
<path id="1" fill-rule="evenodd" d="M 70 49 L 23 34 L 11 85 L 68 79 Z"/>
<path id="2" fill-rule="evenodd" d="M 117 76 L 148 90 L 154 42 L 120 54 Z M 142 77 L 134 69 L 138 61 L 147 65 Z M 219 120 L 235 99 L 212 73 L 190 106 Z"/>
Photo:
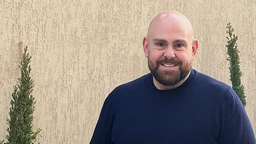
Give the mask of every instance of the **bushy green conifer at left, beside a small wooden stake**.
<path id="1" fill-rule="evenodd" d="M 28 46 L 24 49 L 20 62 L 21 77 L 18 78 L 18 86 L 14 86 L 14 92 L 12 93 L 10 118 L 7 118 L 7 124 L 9 125 L 7 132 L 9 135 L 6 136 L 6 139 L 8 142 L 4 144 L 34 144 L 37 134 L 42 130 L 40 128 L 36 132 L 32 130 L 36 101 L 31 95 L 34 81 L 30 77 L 31 56 L 27 53 L 27 49 Z M 4 140 L 0 144 L 3 142 Z"/>

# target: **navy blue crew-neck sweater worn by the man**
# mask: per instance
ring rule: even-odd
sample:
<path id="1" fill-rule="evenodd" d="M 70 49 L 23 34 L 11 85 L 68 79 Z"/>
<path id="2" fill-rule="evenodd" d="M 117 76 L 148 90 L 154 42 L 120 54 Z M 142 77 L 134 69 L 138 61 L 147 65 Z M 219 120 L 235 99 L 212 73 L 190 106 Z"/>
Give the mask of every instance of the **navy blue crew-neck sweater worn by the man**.
<path id="1" fill-rule="evenodd" d="M 244 107 L 230 86 L 192 70 L 173 90 L 152 74 L 106 98 L 90 144 L 255 144 Z"/>

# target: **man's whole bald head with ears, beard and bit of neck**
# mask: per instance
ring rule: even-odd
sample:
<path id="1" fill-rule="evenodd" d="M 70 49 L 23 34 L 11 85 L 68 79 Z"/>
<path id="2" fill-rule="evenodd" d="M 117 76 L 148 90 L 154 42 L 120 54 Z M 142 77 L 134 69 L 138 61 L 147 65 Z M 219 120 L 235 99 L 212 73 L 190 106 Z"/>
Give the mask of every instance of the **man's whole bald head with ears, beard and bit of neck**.
<path id="1" fill-rule="evenodd" d="M 188 78 L 198 40 L 193 40 L 186 16 L 176 11 L 161 12 L 150 23 L 142 45 L 156 88 L 177 88 Z"/>

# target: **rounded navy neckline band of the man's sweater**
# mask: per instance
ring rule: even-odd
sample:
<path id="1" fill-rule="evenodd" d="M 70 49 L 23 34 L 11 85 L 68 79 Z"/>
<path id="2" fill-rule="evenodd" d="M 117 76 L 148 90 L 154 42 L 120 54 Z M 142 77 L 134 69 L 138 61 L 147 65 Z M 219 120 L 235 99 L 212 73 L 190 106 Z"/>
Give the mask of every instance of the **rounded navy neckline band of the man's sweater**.
<path id="1" fill-rule="evenodd" d="M 180 92 L 180 91 L 188 88 L 187 85 L 190 84 L 191 82 L 193 82 L 194 78 L 196 77 L 196 74 L 197 74 L 196 70 L 192 69 L 190 72 L 190 75 L 188 76 L 188 79 L 179 87 L 171 89 L 171 90 L 158 90 L 156 88 L 156 86 L 154 85 L 152 73 L 149 73 L 146 75 L 144 83 L 145 83 L 146 88 L 148 88 L 148 90 L 150 92 L 153 92 L 157 95 L 176 94 L 176 92 Z"/>

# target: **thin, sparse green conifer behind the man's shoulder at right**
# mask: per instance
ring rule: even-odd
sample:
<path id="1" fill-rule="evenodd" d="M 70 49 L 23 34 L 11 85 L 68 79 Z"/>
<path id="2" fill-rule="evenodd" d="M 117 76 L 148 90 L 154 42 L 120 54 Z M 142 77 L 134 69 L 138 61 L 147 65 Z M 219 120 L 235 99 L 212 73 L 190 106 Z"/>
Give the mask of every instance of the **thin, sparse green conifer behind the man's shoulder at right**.
<path id="1" fill-rule="evenodd" d="M 234 28 L 228 23 L 228 31 L 226 33 L 229 34 L 229 37 L 226 37 L 228 39 L 228 44 L 226 45 L 226 48 L 228 49 L 228 58 L 230 67 L 230 80 L 232 82 L 232 88 L 242 101 L 242 104 L 246 106 L 246 100 L 244 95 L 244 86 L 241 84 L 241 76 L 242 72 L 240 71 L 240 61 L 239 61 L 239 50 L 237 48 L 236 40 L 238 40 L 238 37 L 235 36 L 235 34 L 232 34 L 234 32 Z"/>

